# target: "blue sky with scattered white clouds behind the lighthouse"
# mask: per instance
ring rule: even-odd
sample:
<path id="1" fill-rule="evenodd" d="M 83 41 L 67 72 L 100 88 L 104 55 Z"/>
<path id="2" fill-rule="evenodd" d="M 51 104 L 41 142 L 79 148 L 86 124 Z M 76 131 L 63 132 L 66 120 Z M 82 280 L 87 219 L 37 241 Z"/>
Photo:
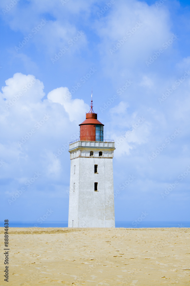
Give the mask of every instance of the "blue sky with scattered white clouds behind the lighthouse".
<path id="1" fill-rule="evenodd" d="M 93 87 L 104 138 L 116 142 L 115 219 L 189 221 L 189 1 L 0 6 L 4 217 L 37 221 L 51 208 L 49 220 L 68 219 L 68 142 Z"/>

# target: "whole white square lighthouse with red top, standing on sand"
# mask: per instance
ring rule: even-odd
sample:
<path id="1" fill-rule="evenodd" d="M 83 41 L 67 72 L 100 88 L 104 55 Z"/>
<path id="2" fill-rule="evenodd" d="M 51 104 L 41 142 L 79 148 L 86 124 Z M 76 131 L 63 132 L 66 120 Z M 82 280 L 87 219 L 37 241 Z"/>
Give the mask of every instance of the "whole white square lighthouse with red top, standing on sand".
<path id="1" fill-rule="evenodd" d="M 115 227 L 113 152 L 104 140 L 104 124 L 91 109 L 80 126 L 80 139 L 70 142 L 68 227 Z"/>

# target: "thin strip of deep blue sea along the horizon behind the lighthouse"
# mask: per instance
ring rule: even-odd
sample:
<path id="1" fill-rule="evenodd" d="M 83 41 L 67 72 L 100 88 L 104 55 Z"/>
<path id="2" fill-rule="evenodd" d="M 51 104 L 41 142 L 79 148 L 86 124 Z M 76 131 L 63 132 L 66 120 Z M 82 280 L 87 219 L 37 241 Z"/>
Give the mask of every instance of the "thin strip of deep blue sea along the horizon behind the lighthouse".
<path id="1" fill-rule="evenodd" d="M 1 227 L 4 221 L 1 221 Z M 9 221 L 9 227 L 68 227 L 68 221 Z M 115 227 L 123 228 L 164 228 L 164 227 L 190 227 L 190 221 L 115 221 Z"/>

